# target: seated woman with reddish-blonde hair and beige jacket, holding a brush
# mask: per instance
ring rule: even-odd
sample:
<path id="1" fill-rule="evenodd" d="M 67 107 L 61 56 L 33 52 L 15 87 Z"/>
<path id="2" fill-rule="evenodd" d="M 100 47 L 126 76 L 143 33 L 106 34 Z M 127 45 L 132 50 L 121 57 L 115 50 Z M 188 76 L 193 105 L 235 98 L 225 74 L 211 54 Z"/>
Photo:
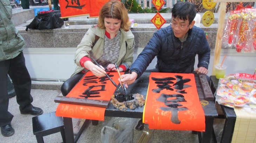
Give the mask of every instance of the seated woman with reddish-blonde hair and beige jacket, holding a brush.
<path id="1" fill-rule="evenodd" d="M 115 63 L 119 71 L 128 70 L 133 62 L 134 46 L 127 9 L 121 1 L 108 1 L 100 10 L 98 25 L 90 27 L 77 46 L 77 67 L 74 74 L 62 84 L 62 95 L 66 96 L 88 70 L 98 77 L 105 76 L 106 71 L 117 71 Z M 96 60 L 101 68 L 90 58 Z M 82 125 L 80 121 L 79 126 Z M 74 134 L 76 132 L 78 130 Z"/>

